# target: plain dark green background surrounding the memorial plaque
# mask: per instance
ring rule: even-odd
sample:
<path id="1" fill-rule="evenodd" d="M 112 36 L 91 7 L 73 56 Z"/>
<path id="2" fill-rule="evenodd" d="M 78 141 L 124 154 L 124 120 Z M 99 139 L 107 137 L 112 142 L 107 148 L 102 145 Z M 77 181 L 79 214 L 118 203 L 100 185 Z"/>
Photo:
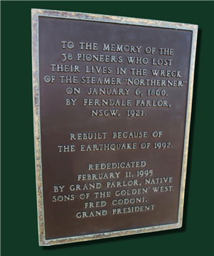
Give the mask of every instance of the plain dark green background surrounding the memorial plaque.
<path id="1" fill-rule="evenodd" d="M 183 227 L 39 247 L 31 8 L 198 24 Z M 214 255 L 213 1 L 1 1 L 1 255 Z"/>

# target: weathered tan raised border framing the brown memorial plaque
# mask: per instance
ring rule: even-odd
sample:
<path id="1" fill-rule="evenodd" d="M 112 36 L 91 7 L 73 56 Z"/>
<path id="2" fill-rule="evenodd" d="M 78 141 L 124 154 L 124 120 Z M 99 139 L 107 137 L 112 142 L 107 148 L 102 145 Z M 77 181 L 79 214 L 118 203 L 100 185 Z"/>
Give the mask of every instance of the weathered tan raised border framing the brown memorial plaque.
<path id="1" fill-rule="evenodd" d="M 190 54 L 190 70 L 188 83 L 188 99 L 186 109 L 185 137 L 183 147 L 183 163 L 180 182 L 180 199 L 178 209 L 178 222 L 169 225 L 157 225 L 151 227 L 141 227 L 129 230 L 120 230 L 113 232 L 101 232 L 97 234 L 78 235 L 72 237 L 62 237 L 46 240 L 45 223 L 44 223 L 44 201 L 42 187 L 42 163 L 41 163 L 41 125 L 40 125 L 40 99 L 39 99 L 39 16 L 47 16 L 63 19 L 78 19 L 85 21 L 101 21 L 116 24 L 130 24 L 137 26 L 154 26 L 165 29 L 180 29 L 193 32 L 191 54 Z M 185 193 L 185 177 L 188 161 L 188 142 L 190 134 L 190 117 L 193 101 L 193 79 L 195 69 L 195 51 L 198 34 L 198 25 L 175 23 L 169 21 L 156 21 L 151 19 L 137 19 L 124 16 L 108 16 L 101 14 L 86 14 L 80 12 L 54 11 L 45 9 L 31 9 L 31 30 L 32 30 L 32 68 L 33 68 L 33 102 L 34 102 L 34 150 L 35 150 L 35 166 L 36 166 L 36 195 L 37 195 L 37 215 L 39 229 L 39 245 L 60 245 L 70 242 L 81 242 L 88 240 L 96 240 L 108 237 L 119 237 L 123 235 L 134 235 L 146 232 L 156 232 L 161 230 L 171 230 L 182 227 L 183 222 L 183 203 Z"/>

